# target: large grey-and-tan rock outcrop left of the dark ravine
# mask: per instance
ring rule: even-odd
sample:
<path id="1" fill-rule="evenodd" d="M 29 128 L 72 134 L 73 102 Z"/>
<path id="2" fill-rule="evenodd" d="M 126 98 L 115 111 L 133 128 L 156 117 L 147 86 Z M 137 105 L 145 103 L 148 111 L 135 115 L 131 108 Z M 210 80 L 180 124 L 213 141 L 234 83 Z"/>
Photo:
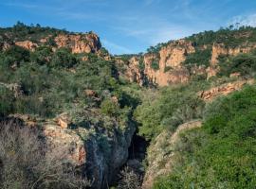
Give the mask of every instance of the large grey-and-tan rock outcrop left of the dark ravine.
<path id="1" fill-rule="evenodd" d="M 62 151 L 65 162 L 71 163 L 82 170 L 84 176 L 92 181 L 92 188 L 107 188 L 114 180 L 119 168 L 128 159 L 128 148 L 136 130 L 135 126 L 127 126 L 120 130 L 113 122 L 111 131 L 99 126 L 78 127 L 69 129 L 63 127 L 58 120 L 67 118 L 62 113 L 53 120 L 39 120 L 29 115 L 15 114 L 11 117 L 23 120 L 30 127 L 42 129 L 46 140 L 46 153 L 60 153 Z"/>

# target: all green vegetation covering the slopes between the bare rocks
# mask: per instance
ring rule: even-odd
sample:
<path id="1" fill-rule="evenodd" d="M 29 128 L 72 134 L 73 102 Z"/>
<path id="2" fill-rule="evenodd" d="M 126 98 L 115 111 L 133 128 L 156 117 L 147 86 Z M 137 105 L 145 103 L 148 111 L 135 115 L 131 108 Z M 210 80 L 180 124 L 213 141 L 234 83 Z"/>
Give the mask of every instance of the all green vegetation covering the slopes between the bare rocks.
<path id="1" fill-rule="evenodd" d="M 39 42 L 46 36 L 61 33 L 70 32 L 17 23 L 13 27 L 0 28 L 0 40 Z M 207 67 L 212 43 L 234 47 L 255 43 L 255 36 L 256 29 L 249 26 L 230 26 L 192 35 L 186 39 L 192 41 L 196 50 L 187 56 L 184 64 L 189 69 L 194 65 Z M 151 64 L 153 69 L 159 69 L 158 53 L 167 44 L 159 43 L 148 49 L 148 53 L 155 56 Z M 42 150 L 45 144 L 39 140 L 40 130 L 2 121 L 9 119 L 11 113 L 51 119 L 62 112 L 72 117 L 74 124 L 70 129 L 96 126 L 90 134 L 94 134 L 105 154 L 110 153 L 111 142 L 107 137 L 114 132 L 120 134 L 129 124 L 137 124 L 138 135 L 154 144 L 159 134 L 173 134 L 179 125 L 202 119 L 201 129 L 183 133 L 174 149 L 169 149 L 174 153 L 174 167 L 168 176 L 158 178 L 154 187 L 255 187 L 256 86 L 246 87 L 210 104 L 198 96 L 200 91 L 228 82 L 230 74 L 255 77 L 255 52 L 219 57 L 219 74 L 208 81 L 205 76 L 192 76 L 187 84 L 159 89 L 140 88 L 120 77 L 125 66 L 111 56 L 110 60 L 103 59 L 101 55 L 109 55 L 106 49 L 102 48 L 99 55 L 72 54 L 68 48 L 53 50 L 54 46 L 54 40 L 49 39 L 35 51 L 12 45 L 0 52 L 0 187 L 26 188 L 36 184 L 35 188 L 79 188 L 90 184 L 77 177 L 81 176 L 80 172 L 60 160 L 62 154 L 56 153 L 52 162 L 48 162 L 46 151 Z M 121 55 L 116 60 L 128 63 L 132 56 Z M 143 72 L 143 56 L 137 55 L 137 59 L 138 68 Z M 167 67 L 165 72 L 171 69 Z M 25 151 L 27 146 L 31 146 L 31 151 Z M 17 162 L 18 159 L 21 161 Z M 62 164 L 52 169 L 57 162 Z M 46 172 L 48 175 L 41 179 Z M 54 178 L 50 178 L 52 175 Z M 136 172 L 125 168 L 120 175 L 118 188 L 139 188 L 141 178 Z M 64 181 L 58 183 L 58 180 Z"/>

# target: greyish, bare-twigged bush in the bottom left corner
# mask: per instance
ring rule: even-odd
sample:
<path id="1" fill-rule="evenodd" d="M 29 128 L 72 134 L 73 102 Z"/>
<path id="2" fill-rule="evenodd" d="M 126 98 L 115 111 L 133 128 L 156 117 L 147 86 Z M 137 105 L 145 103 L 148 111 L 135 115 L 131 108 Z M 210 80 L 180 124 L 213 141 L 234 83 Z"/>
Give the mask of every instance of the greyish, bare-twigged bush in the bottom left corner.
<path id="1" fill-rule="evenodd" d="M 82 188 L 89 186 L 74 167 L 64 162 L 64 151 L 53 149 L 46 155 L 37 129 L 19 122 L 0 123 L 1 188 Z"/>

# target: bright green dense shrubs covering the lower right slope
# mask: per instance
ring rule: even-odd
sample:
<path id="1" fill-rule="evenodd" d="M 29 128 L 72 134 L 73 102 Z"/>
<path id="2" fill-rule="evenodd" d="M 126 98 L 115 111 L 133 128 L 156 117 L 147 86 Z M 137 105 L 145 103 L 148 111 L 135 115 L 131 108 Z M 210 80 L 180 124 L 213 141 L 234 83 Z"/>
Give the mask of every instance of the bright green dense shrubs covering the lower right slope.
<path id="1" fill-rule="evenodd" d="M 155 188 L 254 188 L 256 87 L 212 102 L 202 129 L 182 135 L 173 173 Z"/>

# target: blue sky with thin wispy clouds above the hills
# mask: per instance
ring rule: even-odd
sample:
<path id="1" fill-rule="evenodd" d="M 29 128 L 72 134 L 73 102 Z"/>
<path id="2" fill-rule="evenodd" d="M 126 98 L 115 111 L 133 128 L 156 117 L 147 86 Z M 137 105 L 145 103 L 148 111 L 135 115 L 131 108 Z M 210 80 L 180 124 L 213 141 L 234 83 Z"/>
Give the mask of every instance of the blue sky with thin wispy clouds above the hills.
<path id="1" fill-rule="evenodd" d="M 0 26 L 54 26 L 93 30 L 112 54 L 232 23 L 256 26 L 256 0 L 1 0 Z"/>

